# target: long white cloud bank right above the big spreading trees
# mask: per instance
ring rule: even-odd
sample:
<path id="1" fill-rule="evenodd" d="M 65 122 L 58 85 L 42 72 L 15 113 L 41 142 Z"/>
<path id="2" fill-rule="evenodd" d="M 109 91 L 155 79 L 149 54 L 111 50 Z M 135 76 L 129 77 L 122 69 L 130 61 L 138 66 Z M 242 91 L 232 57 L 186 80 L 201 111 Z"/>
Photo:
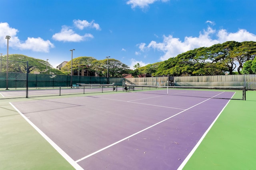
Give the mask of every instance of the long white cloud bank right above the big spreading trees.
<path id="1" fill-rule="evenodd" d="M 212 37 L 216 38 L 213 39 Z M 164 35 L 163 42 L 157 43 L 156 41 L 151 41 L 148 45 L 146 45 L 146 43 L 140 43 L 138 46 L 140 52 L 144 52 L 145 49 L 154 49 L 164 52 L 164 55 L 162 55 L 159 60 L 165 61 L 170 57 L 176 57 L 178 54 L 189 50 L 199 47 L 210 47 L 214 44 L 224 43 L 226 41 L 256 41 L 256 35 L 245 29 L 239 29 L 235 33 L 228 33 L 225 29 L 216 31 L 215 29 L 208 27 L 207 30 L 200 32 L 198 37 L 185 37 L 184 41 L 181 41 L 179 38 L 175 38 L 172 35 Z"/>

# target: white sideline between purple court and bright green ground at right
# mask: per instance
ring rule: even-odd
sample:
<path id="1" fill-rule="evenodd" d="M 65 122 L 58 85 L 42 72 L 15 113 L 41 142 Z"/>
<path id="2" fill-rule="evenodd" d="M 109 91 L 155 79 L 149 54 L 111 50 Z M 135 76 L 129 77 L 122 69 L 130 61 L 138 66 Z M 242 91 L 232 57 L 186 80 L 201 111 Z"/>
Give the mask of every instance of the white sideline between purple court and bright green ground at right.
<path id="1" fill-rule="evenodd" d="M 230 102 L 230 100 L 228 101 L 228 103 Z M 226 106 L 228 105 L 228 103 L 226 104 Z M 220 116 L 220 114 L 222 113 L 222 111 L 225 109 L 225 107 L 223 107 L 223 109 L 220 111 L 220 113 L 217 115 L 217 117 L 214 119 L 214 121 L 212 122 L 212 124 L 208 127 L 208 129 L 205 131 L 204 135 L 202 135 L 202 137 L 200 138 L 200 140 L 198 141 L 198 143 L 195 145 L 195 147 L 191 150 L 191 152 L 188 154 L 188 156 L 184 159 L 184 161 L 182 162 L 182 164 L 180 164 L 179 168 L 177 170 L 182 170 L 184 168 L 184 166 L 186 165 L 186 163 L 188 162 L 188 160 L 191 158 L 191 156 L 194 154 L 194 152 L 196 151 L 196 149 L 199 147 L 199 145 L 202 143 L 204 137 L 207 135 L 207 133 L 210 131 L 210 129 L 212 128 L 212 126 L 214 125 L 214 123 L 217 121 L 218 117 Z"/>

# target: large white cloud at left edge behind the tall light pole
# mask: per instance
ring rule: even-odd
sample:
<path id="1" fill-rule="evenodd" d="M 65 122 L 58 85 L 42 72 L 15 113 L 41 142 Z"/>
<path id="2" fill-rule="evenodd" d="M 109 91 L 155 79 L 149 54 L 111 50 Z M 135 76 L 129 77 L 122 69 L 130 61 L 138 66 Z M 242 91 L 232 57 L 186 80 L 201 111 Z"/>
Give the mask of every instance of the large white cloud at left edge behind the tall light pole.
<path id="1" fill-rule="evenodd" d="M 14 49 L 48 53 L 50 48 L 54 47 L 54 45 L 49 40 L 44 40 L 40 37 L 28 37 L 26 41 L 21 41 L 17 36 L 17 33 L 19 32 L 18 29 L 10 27 L 6 22 L 0 23 L 0 30 L 0 47 L 6 46 L 6 35 L 11 37 L 9 40 L 9 47 Z"/>

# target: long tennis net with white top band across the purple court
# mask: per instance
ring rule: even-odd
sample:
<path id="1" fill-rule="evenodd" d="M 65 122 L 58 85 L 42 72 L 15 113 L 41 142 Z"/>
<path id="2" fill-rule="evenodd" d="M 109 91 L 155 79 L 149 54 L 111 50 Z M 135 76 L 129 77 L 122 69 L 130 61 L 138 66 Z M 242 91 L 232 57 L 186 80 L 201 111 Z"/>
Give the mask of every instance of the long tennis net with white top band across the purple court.
<path id="1" fill-rule="evenodd" d="M 188 96 L 201 98 L 219 98 L 246 100 L 246 87 L 243 86 L 146 86 L 127 84 L 127 90 L 131 92 L 142 92 L 150 94 L 166 94 L 173 96 Z"/>

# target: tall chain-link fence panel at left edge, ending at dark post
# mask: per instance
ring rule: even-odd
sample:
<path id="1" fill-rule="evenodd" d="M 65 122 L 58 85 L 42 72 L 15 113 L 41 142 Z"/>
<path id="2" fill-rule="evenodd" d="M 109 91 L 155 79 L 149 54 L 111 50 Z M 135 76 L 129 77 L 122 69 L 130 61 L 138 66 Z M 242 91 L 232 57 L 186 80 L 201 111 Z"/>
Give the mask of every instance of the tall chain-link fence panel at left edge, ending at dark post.
<path id="1" fill-rule="evenodd" d="M 0 99 L 26 98 L 28 62 L 0 60 Z"/>

